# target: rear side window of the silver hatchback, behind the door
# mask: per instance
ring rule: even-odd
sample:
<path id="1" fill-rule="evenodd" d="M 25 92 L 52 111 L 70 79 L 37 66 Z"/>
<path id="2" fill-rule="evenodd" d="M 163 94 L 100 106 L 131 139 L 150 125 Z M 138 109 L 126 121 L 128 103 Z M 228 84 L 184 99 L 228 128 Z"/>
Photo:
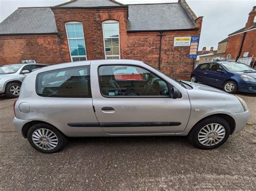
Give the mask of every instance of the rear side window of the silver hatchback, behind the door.
<path id="1" fill-rule="evenodd" d="M 39 73 L 36 93 L 42 97 L 91 97 L 90 67 L 72 67 Z"/>

